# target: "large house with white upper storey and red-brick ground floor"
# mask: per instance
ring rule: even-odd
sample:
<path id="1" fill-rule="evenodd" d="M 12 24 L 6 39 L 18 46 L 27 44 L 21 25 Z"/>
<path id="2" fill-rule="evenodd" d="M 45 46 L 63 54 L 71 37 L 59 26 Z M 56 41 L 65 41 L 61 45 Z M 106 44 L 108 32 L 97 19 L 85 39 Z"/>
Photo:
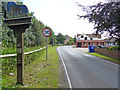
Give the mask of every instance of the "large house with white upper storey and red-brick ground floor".
<path id="1" fill-rule="evenodd" d="M 76 36 L 76 47 L 87 48 L 89 45 L 104 46 L 104 42 L 99 34 L 77 34 Z"/>

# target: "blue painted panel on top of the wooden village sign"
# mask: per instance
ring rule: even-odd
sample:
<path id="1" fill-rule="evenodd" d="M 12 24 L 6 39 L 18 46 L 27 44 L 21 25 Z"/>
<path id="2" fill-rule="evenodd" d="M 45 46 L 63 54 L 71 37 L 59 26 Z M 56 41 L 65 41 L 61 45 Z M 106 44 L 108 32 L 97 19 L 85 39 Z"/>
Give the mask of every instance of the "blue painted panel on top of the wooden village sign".
<path id="1" fill-rule="evenodd" d="M 27 16 L 28 16 L 28 8 L 25 5 L 17 5 L 15 2 L 7 3 L 6 19 L 27 17 Z"/>

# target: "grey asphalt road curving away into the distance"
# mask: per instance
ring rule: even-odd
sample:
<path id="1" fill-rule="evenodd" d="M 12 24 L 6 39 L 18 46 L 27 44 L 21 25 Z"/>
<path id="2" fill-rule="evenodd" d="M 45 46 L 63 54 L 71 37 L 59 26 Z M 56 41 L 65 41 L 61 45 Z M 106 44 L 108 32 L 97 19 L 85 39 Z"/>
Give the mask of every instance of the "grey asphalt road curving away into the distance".
<path id="1" fill-rule="evenodd" d="M 57 51 L 70 88 L 118 88 L 118 65 L 70 46 Z"/>

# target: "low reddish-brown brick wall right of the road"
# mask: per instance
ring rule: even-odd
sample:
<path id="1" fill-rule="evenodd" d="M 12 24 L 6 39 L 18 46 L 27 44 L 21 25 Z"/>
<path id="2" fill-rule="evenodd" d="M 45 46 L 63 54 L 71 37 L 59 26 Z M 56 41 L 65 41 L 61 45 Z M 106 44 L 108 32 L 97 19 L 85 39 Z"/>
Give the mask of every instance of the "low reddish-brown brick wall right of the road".
<path id="1" fill-rule="evenodd" d="M 95 48 L 95 52 L 120 60 L 120 50 L 108 50 L 104 48 Z"/>

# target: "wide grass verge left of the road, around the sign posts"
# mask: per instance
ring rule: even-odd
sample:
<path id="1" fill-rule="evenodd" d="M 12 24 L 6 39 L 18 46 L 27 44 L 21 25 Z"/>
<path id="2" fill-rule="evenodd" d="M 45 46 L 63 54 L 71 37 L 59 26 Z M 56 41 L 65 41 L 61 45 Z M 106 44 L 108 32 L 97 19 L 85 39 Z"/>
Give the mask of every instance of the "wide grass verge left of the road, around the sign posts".
<path id="1" fill-rule="evenodd" d="M 48 47 L 48 60 L 46 60 L 46 52 L 24 67 L 24 86 L 16 85 L 17 72 L 13 72 L 13 76 L 3 76 L 4 88 L 58 88 L 58 55 L 56 52 L 57 46 Z M 3 88 L 3 89 L 4 89 Z"/>

